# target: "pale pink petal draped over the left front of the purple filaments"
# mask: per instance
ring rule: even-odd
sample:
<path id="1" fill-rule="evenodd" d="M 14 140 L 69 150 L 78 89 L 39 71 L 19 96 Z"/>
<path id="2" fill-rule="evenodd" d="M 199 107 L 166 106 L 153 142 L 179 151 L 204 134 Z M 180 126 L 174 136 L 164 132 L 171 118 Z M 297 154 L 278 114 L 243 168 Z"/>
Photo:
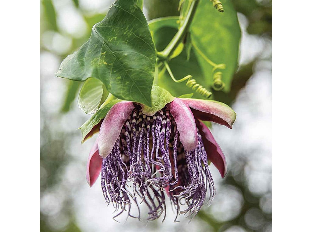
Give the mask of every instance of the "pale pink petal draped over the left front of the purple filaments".
<path id="1" fill-rule="evenodd" d="M 102 158 L 106 158 L 113 150 L 121 129 L 133 109 L 132 102 L 122 101 L 113 105 L 106 114 L 99 133 L 99 153 Z"/>

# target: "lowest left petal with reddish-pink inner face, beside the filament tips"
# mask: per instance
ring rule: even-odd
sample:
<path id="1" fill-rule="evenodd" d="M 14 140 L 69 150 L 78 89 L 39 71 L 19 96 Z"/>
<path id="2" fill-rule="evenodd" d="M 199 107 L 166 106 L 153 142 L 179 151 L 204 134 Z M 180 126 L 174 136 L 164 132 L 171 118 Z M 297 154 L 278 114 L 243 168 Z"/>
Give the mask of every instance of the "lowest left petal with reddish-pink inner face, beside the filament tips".
<path id="1" fill-rule="evenodd" d="M 96 139 L 96 142 L 89 153 L 89 159 L 87 163 L 86 177 L 90 187 L 95 183 L 96 179 L 100 175 L 102 161 L 103 159 L 99 155 L 98 139 Z"/>

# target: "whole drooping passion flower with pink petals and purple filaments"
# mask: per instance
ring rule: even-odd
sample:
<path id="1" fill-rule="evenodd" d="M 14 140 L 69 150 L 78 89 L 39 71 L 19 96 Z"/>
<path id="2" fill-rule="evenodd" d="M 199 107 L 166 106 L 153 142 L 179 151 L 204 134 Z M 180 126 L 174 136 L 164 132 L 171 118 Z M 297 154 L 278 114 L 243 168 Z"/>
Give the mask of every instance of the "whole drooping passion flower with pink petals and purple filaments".
<path id="1" fill-rule="evenodd" d="M 196 215 L 216 194 L 208 162 L 222 178 L 227 173 L 224 154 L 202 120 L 231 128 L 235 112 L 212 100 L 172 97 L 165 103 L 153 109 L 121 101 L 101 123 L 89 155 L 87 181 L 92 186 L 101 173 L 103 195 L 119 210 L 116 216 L 127 210 L 140 218 L 139 204 L 144 202 L 148 220 L 157 219 L 166 210 L 165 195 L 177 216 Z M 132 215 L 133 205 L 139 215 Z"/>

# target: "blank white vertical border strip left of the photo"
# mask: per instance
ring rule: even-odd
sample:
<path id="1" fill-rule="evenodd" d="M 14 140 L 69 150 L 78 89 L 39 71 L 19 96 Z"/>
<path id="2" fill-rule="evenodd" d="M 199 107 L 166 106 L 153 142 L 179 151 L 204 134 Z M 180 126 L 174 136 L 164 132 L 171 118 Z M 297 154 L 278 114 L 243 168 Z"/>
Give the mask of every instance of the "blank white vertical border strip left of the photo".
<path id="1" fill-rule="evenodd" d="M 40 2 L 1 6 L 2 231 L 39 231 Z"/>

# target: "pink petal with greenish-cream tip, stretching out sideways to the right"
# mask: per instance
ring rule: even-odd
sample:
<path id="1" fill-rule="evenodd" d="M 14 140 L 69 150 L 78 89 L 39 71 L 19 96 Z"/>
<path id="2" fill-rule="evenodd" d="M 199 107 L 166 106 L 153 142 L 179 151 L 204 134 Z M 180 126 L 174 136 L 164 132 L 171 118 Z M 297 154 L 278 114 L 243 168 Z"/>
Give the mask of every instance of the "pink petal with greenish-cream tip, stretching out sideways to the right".
<path id="1" fill-rule="evenodd" d="M 219 123 L 232 129 L 236 113 L 228 105 L 214 100 L 190 98 L 181 98 L 181 100 L 192 109 L 195 118 Z"/>

